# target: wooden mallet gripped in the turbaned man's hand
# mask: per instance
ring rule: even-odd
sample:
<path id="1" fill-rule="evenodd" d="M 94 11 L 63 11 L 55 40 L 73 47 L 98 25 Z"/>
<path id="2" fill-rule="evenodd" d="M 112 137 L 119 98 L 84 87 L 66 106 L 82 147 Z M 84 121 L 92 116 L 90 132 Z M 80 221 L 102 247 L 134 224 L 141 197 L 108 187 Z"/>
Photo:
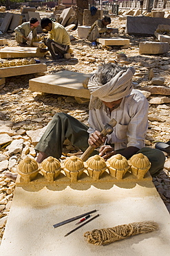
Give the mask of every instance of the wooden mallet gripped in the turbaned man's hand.
<path id="1" fill-rule="evenodd" d="M 101 131 L 101 134 L 103 134 L 103 136 L 107 136 L 107 134 L 111 134 L 114 131 L 114 127 L 116 123 L 117 122 L 114 118 L 111 119 L 110 122 L 106 124 L 104 129 Z M 90 156 L 90 154 L 92 154 L 92 152 L 94 152 L 95 148 L 96 147 L 92 147 L 92 146 L 87 147 L 87 149 L 81 156 L 81 159 L 83 160 L 83 162 L 87 160 L 87 158 Z"/>

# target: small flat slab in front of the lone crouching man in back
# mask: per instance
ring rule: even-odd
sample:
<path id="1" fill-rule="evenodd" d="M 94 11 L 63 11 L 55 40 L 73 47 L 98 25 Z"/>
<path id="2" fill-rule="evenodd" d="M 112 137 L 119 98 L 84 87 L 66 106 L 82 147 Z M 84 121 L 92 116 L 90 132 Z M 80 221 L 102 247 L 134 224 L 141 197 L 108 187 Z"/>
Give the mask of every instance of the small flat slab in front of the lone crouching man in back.
<path id="1" fill-rule="evenodd" d="M 97 38 L 96 42 L 103 44 L 104 46 L 129 46 L 130 40 L 120 37 L 111 38 Z"/>

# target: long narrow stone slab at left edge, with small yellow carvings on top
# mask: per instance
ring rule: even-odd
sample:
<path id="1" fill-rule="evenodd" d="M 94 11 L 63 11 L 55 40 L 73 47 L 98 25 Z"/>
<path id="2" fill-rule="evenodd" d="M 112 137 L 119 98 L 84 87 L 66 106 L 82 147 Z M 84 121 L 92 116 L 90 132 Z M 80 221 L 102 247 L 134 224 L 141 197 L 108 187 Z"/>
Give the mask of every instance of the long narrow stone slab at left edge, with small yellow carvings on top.
<path id="1" fill-rule="evenodd" d="M 24 66 L 10 66 L 8 68 L 0 68 L 0 77 L 10 77 L 15 75 L 27 75 L 47 71 L 45 63 L 30 64 Z"/>

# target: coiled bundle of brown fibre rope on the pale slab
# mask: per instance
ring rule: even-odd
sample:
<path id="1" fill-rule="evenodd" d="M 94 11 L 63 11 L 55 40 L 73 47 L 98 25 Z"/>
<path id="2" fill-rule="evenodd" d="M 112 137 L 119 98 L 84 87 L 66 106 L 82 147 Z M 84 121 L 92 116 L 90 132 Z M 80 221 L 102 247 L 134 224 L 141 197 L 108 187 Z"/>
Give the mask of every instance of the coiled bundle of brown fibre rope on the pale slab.
<path id="1" fill-rule="evenodd" d="M 94 229 L 92 232 L 85 232 L 89 244 L 96 246 L 110 244 L 114 241 L 131 237 L 132 235 L 144 234 L 158 230 L 158 223 L 153 221 L 134 222 L 114 228 Z"/>

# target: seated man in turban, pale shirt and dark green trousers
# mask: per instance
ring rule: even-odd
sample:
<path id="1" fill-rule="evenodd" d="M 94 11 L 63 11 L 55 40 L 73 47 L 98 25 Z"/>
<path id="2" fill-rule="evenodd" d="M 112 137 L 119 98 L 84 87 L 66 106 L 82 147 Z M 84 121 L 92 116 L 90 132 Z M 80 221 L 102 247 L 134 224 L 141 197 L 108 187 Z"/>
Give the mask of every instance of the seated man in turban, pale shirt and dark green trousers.
<path id="1" fill-rule="evenodd" d="M 124 68 L 108 63 L 98 67 L 89 79 L 91 93 L 89 102 L 89 127 L 67 113 L 56 113 L 35 149 L 36 159 L 41 163 L 48 156 L 60 158 L 63 142 L 67 138 L 72 145 L 83 152 L 89 145 L 98 148 L 105 160 L 115 154 L 129 159 L 142 153 L 149 158 L 152 176 L 159 174 L 164 167 L 165 157 L 159 149 L 145 147 L 148 126 L 149 103 L 145 96 L 132 88 L 134 67 Z M 114 131 L 104 137 L 100 131 L 114 118 L 117 121 Z M 107 145 L 103 145 L 107 139 Z"/>

